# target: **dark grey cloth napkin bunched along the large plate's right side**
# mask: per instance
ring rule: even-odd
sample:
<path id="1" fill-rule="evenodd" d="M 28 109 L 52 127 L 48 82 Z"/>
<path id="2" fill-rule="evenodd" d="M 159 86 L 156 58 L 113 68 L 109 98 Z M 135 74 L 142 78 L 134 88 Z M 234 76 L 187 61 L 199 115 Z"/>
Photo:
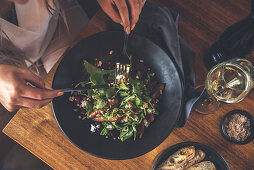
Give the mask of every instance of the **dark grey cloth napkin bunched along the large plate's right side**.
<path id="1" fill-rule="evenodd" d="M 176 12 L 147 2 L 132 32 L 145 36 L 160 46 L 178 67 L 184 85 L 184 102 L 177 126 L 183 127 L 200 93 L 195 89 L 195 55 L 178 34 L 178 18 Z M 109 30 L 121 29 L 119 24 L 109 24 Z"/>

